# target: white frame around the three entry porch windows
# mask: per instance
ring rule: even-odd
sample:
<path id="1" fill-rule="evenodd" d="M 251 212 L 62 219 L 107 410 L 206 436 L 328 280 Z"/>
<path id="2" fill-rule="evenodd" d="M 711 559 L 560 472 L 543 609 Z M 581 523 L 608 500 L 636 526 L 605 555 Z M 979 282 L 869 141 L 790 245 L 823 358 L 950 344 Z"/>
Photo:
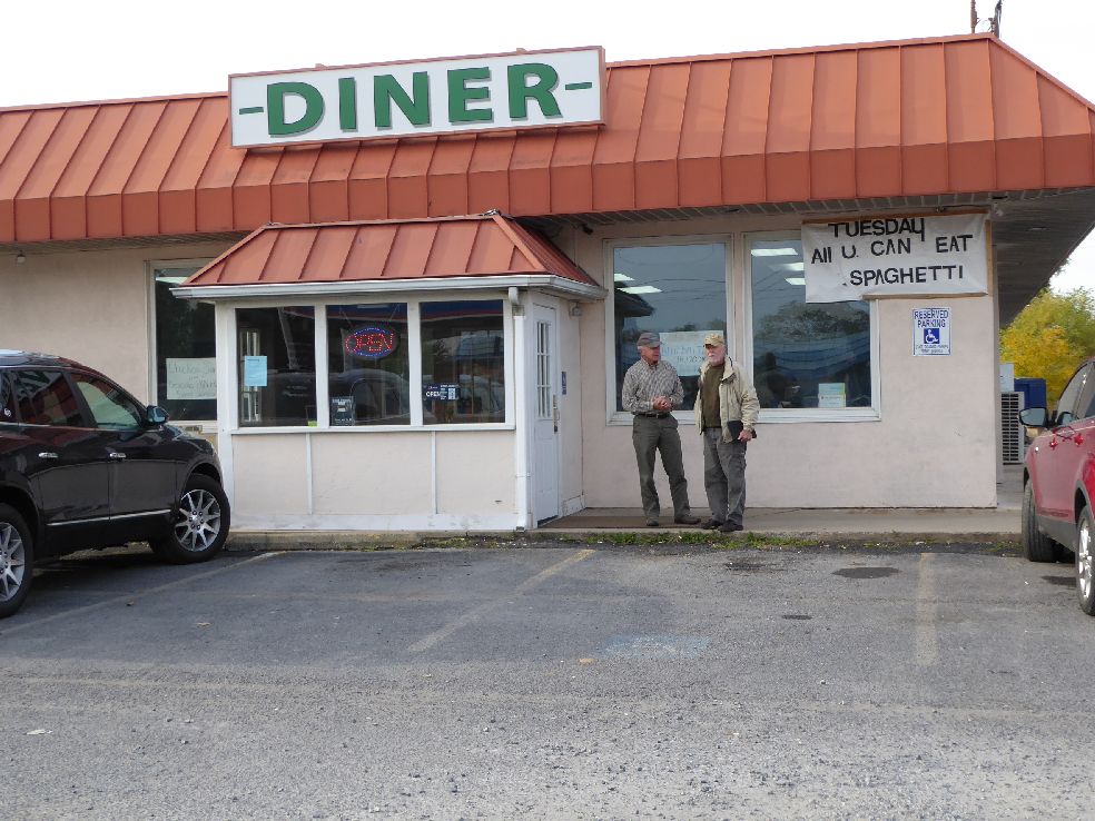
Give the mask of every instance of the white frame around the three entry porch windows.
<path id="1" fill-rule="evenodd" d="M 502 304 L 503 362 L 505 375 L 505 417 L 504 422 L 433 424 L 423 423 L 422 406 L 422 322 L 420 306 L 422 303 L 441 301 L 500 301 Z M 342 305 L 387 305 L 405 303 L 407 306 L 407 356 L 411 364 L 411 424 L 405 425 L 332 425 L 329 397 L 329 362 L 327 345 L 327 306 Z M 239 425 L 239 377 L 237 360 L 239 353 L 235 344 L 237 335 L 236 310 L 238 308 L 285 308 L 313 307 L 315 309 L 315 358 L 316 358 L 316 425 L 312 426 L 263 426 L 240 427 Z M 407 432 L 457 432 L 457 431 L 513 431 L 515 425 L 515 389 L 514 385 L 514 339 L 513 339 L 513 306 L 505 291 L 496 289 L 475 290 L 431 290 L 431 291 L 384 291 L 373 294 L 338 294 L 302 298 L 256 298 L 231 300 L 224 305 L 227 313 L 227 340 L 229 349 L 217 349 L 218 360 L 230 356 L 228 379 L 230 389 L 227 400 L 228 408 L 219 408 L 218 415 L 226 421 L 226 433 L 233 436 L 254 436 L 286 433 L 333 433 L 346 434 L 383 434 Z M 218 327 L 219 324 L 218 324 Z M 219 397 L 218 397 L 219 398 Z"/>

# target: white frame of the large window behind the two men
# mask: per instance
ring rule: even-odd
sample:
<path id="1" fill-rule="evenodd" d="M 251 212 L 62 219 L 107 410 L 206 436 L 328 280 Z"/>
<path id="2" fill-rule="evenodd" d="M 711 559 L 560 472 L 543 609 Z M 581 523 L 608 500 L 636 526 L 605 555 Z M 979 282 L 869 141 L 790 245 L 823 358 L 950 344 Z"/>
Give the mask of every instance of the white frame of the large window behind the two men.
<path id="1" fill-rule="evenodd" d="M 717 234 L 681 234 L 673 236 L 643 236 L 643 237 L 613 237 L 605 239 L 603 244 L 603 270 L 606 291 L 604 297 L 604 409 L 605 424 L 608 425 L 631 425 L 632 416 L 627 410 L 616 410 L 616 373 L 615 373 L 615 267 L 613 257 L 616 248 L 639 248 L 651 246 L 674 246 L 674 245 L 723 245 L 726 248 L 726 273 L 723 287 L 726 293 L 726 319 L 727 319 L 727 356 L 737 360 L 733 353 L 734 340 L 734 311 L 733 311 L 733 250 L 740 245 L 736 243 L 736 235 L 730 233 Z M 690 407 L 682 407 L 673 412 L 673 417 L 680 422 L 693 418 L 694 412 Z"/>

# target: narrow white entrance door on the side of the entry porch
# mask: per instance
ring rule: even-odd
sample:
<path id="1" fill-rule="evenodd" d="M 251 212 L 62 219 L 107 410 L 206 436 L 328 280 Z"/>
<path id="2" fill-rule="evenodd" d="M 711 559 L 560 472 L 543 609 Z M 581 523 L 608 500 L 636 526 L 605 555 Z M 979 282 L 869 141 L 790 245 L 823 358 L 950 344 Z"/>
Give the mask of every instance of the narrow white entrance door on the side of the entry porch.
<path id="1" fill-rule="evenodd" d="M 559 356 L 555 309 L 533 307 L 532 513 L 536 524 L 559 515 Z"/>

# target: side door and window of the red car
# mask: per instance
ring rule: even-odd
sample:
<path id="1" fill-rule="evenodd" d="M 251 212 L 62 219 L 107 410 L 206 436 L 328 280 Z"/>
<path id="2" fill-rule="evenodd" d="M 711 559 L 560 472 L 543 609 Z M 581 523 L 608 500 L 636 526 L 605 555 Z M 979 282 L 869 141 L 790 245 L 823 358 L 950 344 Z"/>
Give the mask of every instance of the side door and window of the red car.
<path id="1" fill-rule="evenodd" d="M 1034 443 L 1035 506 L 1044 516 L 1067 522 L 1069 528 L 1083 444 L 1095 433 L 1077 415 L 1079 396 L 1091 379 L 1091 364 L 1073 374 L 1061 392 L 1049 431 Z"/>

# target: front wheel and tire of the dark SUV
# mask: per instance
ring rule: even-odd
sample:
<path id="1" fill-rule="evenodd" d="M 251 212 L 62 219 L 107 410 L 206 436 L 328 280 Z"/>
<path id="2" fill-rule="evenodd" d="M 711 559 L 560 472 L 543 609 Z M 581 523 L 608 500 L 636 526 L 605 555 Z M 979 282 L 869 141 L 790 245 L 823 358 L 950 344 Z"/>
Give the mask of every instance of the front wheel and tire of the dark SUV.
<path id="1" fill-rule="evenodd" d="M 230 525 L 228 497 L 216 479 L 195 474 L 187 481 L 164 538 L 151 540 L 152 552 L 171 564 L 213 558 L 225 546 Z"/>

